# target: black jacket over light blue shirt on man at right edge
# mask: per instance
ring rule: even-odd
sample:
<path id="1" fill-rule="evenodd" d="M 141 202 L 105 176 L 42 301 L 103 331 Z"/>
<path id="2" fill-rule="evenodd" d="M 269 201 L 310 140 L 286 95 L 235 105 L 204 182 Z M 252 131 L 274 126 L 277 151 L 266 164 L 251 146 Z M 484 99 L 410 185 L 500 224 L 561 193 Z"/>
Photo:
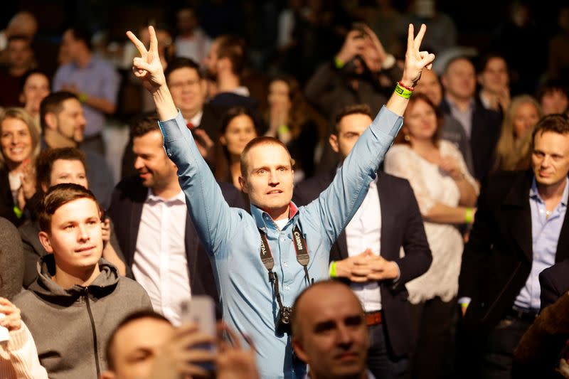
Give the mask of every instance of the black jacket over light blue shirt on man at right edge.
<path id="1" fill-rule="evenodd" d="M 532 179 L 531 171 L 510 171 L 489 176 L 482 186 L 459 277 L 459 297 L 471 298 L 464 326 L 473 336 L 483 336 L 504 318 L 530 274 Z M 555 262 L 569 257 L 568 219 L 569 212 Z"/>

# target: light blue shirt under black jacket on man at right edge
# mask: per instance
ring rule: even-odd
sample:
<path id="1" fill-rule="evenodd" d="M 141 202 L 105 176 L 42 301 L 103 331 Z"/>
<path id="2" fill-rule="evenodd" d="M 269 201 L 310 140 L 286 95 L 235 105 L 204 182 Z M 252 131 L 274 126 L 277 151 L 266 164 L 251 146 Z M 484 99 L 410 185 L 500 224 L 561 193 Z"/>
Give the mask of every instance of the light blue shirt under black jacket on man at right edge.
<path id="1" fill-rule="evenodd" d="M 516 308 L 536 312 L 541 308 L 539 273 L 555 265 L 555 252 L 557 252 L 557 242 L 563 220 L 565 220 L 568 196 L 569 179 L 565 179 L 565 189 L 561 201 L 547 218 L 546 203 L 539 196 L 536 178 L 533 178 L 529 190 L 533 261 L 528 280 L 514 301 Z"/>

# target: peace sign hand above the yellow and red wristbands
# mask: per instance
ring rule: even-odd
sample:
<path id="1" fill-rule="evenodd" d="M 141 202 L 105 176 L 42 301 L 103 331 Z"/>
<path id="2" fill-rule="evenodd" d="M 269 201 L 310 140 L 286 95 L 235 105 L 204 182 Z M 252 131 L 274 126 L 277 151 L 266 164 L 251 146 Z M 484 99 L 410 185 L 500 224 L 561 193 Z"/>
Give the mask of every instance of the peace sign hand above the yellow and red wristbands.
<path id="1" fill-rule="evenodd" d="M 407 36 L 407 51 L 405 52 L 405 68 L 403 69 L 403 84 L 408 87 L 414 87 L 421 78 L 421 71 L 423 68 L 428 70 L 432 67 L 432 61 L 435 60 L 435 54 L 428 51 L 420 51 L 421 42 L 427 26 L 421 25 L 417 37 L 413 38 L 415 34 L 413 31 L 413 24 L 409 24 L 409 31 Z"/>

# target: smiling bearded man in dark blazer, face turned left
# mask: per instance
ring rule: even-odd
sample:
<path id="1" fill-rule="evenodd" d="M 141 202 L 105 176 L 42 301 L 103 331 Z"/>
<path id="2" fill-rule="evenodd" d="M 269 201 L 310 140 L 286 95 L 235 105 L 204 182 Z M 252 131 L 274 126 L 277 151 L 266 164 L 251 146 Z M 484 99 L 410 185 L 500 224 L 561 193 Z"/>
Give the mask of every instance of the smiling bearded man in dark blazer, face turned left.
<path id="1" fill-rule="evenodd" d="M 147 290 L 154 310 L 179 324 L 182 300 L 190 294 L 218 299 L 218 293 L 157 121 L 147 117 L 132 129 L 139 175 L 117 184 L 109 215 L 134 279 Z M 243 207 L 233 186 L 222 186 L 222 191 L 231 206 Z"/>

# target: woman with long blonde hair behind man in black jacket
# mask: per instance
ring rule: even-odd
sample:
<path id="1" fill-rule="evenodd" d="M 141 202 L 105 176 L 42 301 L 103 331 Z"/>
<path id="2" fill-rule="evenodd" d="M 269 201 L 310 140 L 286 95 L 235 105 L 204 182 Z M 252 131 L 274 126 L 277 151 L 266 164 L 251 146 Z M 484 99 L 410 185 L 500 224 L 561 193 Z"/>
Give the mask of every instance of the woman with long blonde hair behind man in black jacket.
<path id="1" fill-rule="evenodd" d="M 531 132 L 541 119 L 541 107 L 530 95 L 514 97 L 504 114 L 493 171 L 529 168 Z"/>

